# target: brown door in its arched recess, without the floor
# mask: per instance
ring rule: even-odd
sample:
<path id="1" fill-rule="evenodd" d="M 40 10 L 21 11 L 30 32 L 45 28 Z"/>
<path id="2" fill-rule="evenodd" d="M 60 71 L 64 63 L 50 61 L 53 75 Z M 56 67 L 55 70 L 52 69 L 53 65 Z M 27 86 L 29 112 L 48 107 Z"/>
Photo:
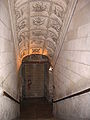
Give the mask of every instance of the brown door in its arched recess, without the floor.
<path id="1" fill-rule="evenodd" d="M 49 59 L 44 55 L 33 54 L 22 60 L 20 70 L 22 97 L 47 97 L 47 99 L 52 99 L 50 94 L 53 92 L 53 79 L 50 78 L 50 67 Z M 50 91 L 50 86 L 52 91 Z"/>

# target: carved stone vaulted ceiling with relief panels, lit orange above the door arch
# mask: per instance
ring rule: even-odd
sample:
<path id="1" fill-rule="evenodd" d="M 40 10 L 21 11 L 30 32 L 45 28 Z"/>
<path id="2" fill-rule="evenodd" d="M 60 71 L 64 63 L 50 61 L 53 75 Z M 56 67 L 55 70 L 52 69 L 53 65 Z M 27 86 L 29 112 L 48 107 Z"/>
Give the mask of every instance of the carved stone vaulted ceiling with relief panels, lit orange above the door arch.
<path id="1" fill-rule="evenodd" d="M 53 58 L 67 4 L 67 0 L 14 0 L 21 57 L 24 54 L 43 54 Z"/>

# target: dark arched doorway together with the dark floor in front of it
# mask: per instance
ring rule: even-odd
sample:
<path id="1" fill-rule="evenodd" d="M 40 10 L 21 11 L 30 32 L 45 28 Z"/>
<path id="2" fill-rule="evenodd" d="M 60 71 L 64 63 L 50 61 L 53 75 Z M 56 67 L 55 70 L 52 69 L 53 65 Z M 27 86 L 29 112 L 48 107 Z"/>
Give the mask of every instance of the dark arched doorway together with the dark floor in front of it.
<path id="1" fill-rule="evenodd" d="M 20 119 L 53 118 L 53 79 L 49 59 L 44 55 L 30 55 L 21 65 Z"/>

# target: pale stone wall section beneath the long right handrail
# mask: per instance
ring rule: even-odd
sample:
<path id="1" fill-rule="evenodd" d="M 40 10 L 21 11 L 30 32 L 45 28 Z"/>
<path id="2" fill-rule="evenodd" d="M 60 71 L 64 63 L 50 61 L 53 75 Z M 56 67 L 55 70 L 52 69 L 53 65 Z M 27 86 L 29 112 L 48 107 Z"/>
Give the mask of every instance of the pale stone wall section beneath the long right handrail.
<path id="1" fill-rule="evenodd" d="M 58 120 L 89 120 L 90 93 L 73 97 L 54 104 L 54 114 Z"/>

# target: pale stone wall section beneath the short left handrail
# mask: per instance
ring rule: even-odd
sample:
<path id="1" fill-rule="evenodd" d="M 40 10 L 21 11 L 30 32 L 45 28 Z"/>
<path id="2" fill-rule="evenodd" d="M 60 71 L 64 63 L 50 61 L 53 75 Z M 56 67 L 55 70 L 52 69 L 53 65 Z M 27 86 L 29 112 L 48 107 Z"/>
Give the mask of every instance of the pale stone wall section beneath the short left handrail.
<path id="1" fill-rule="evenodd" d="M 20 114 L 19 104 L 5 96 L 0 96 L 0 120 L 12 120 Z"/>

